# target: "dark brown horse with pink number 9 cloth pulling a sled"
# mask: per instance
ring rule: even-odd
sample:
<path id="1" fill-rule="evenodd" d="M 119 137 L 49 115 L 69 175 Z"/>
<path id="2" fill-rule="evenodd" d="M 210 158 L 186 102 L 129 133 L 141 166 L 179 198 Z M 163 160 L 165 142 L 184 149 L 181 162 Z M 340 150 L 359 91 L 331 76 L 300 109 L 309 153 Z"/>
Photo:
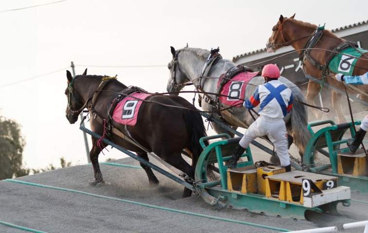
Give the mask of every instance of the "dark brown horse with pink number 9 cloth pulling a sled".
<path id="1" fill-rule="evenodd" d="M 141 104 L 136 125 L 124 125 L 109 119 L 112 102 L 120 94 L 125 96 L 128 87 L 116 78 L 104 76 L 77 75 L 72 77 L 67 71 L 68 87 L 65 95 L 68 98 L 66 117 L 71 124 L 78 120 L 80 112 L 88 107 L 91 114 L 90 126 L 94 133 L 105 135 L 108 122 L 115 130 L 106 135 L 110 141 L 122 148 L 134 151 L 148 161 L 147 151 L 154 152 L 163 161 L 183 171 L 188 178 L 194 179 L 195 166 L 202 152 L 199 139 L 206 136 L 202 116 L 195 107 L 182 97 L 167 95 L 150 95 Z M 142 89 L 141 89 L 142 90 Z M 104 121 L 106 119 L 106 121 Z M 104 126 L 105 125 L 105 126 Z M 106 131 L 105 131 L 106 132 Z M 92 137 L 90 158 L 94 170 L 95 183 L 103 183 L 98 165 L 98 155 L 104 146 L 103 141 Z M 192 158 L 190 166 L 182 157 L 186 150 Z M 158 185 L 159 181 L 150 167 L 140 163 L 145 169 L 150 185 Z M 188 182 L 188 179 L 184 179 Z M 190 183 L 189 179 L 189 183 Z M 183 197 L 191 196 L 192 191 L 184 188 Z"/>

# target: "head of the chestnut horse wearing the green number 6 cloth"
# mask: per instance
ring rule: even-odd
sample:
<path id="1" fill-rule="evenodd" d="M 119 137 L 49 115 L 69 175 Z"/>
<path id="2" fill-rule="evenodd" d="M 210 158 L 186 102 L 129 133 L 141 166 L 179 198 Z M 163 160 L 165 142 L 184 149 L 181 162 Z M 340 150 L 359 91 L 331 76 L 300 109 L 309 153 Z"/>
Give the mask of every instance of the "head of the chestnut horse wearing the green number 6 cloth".
<path id="1" fill-rule="evenodd" d="M 295 14 L 290 18 L 294 18 L 294 16 Z M 284 23 L 288 19 L 289 18 L 280 15 L 276 25 L 272 28 L 272 35 L 268 38 L 266 43 L 267 52 L 276 52 L 279 48 L 289 45 L 287 42 L 290 41 L 290 39 L 283 33 Z"/>

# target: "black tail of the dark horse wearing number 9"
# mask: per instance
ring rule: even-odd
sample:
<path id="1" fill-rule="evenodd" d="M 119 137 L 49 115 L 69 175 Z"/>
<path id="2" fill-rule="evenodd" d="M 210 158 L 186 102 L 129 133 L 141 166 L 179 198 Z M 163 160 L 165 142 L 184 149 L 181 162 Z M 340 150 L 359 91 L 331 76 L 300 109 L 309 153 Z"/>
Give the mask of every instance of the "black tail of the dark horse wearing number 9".
<path id="1" fill-rule="evenodd" d="M 196 110 L 184 109 L 184 119 L 188 134 L 193 142 L 193 165 L 196 165 L 203 149 L 200 138 L 207 136 L 202 116 Z M 204 142 L 208 146 L 208 142 Z"/>

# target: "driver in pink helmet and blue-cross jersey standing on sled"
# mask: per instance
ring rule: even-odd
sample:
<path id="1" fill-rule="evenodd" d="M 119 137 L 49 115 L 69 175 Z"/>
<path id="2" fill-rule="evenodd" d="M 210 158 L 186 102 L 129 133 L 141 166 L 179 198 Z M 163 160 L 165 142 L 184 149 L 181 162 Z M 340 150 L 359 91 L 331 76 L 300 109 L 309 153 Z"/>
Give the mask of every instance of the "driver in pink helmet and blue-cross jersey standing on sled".
<path id="1" fill-rule="evenodd" d="M 259 85 L 253 96 L 244 101 L 243 106 L 251 110 L 260 104 L 259 117 L 253 122 L 240 139 L 229 162 L 235 168 L 240 156 L 252 140 L 267 135 L 274 144 L 280 164 L 286 172 L 291 171 L 288 153 L 288 136 L 283 118 L 293 108 L 293 94 L 290 88 L 278 81 L 280 70 L 276 65 L 268 64 L 262 69 L 264 84 Z"/>

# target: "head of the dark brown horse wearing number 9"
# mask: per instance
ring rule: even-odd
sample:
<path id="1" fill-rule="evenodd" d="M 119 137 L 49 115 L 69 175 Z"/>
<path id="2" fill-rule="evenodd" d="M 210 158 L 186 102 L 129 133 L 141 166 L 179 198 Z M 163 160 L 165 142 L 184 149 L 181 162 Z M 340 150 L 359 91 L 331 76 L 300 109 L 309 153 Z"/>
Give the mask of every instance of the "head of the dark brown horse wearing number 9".
<path id="1" fill-rule="evenodd" d="M 87 69 L 83 75 L 87 74 Z M 76 76 L 72 76 L 69 70 L 67 70 L 68 86 L 65 89 L 65 95 L 68 99 L 68 105 L 66 108 L 65 116 L 69 120 L 69 123 L 74 124 L 78 120 L 78 115 L 83 110 L 83 102 L 80 94 L 74 89 L 74 81 Z"/>

